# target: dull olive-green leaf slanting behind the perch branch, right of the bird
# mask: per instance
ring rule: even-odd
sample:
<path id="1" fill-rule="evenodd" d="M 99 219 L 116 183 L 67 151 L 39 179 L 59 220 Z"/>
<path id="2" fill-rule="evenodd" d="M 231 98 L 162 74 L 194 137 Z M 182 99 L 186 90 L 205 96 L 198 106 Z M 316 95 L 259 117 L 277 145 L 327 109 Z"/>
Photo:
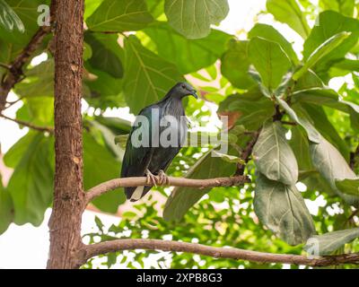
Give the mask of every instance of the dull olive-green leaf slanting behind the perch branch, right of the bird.
<path id="1" fill-rule="evenodd" d="M 235 164 L 223 161 L 220 157 L 213 157 L 212 152 L 209 151 L 188 170 L 186 178 L 218 178 L 230 176 L 234 170 Z M 188 209 L 210 190 L 211 187 L 203 189 L 174 188 L 164 207 L 163 218 L 166 221 L 179 222 Z"/>

